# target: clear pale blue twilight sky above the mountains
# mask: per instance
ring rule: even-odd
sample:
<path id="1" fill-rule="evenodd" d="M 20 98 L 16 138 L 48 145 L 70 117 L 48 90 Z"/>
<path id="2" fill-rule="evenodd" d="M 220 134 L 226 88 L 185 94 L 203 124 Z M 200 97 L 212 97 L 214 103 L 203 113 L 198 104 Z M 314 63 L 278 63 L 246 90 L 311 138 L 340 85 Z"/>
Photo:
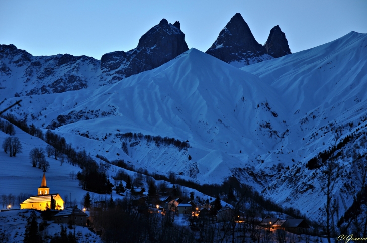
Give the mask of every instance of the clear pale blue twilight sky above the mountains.
<path id="1" fill-rule="evenodd" d="M 205 52 L 235 13 L 264 44 L 279 25 L 299 52 L 350 31 L 367 33 L 367 1 L 7 1 L 0 0 L 0 44 L 34 56 L 69 53 L 101 59 L 128 51 L 163 18 L 178 20 L 189 48 Z"/>

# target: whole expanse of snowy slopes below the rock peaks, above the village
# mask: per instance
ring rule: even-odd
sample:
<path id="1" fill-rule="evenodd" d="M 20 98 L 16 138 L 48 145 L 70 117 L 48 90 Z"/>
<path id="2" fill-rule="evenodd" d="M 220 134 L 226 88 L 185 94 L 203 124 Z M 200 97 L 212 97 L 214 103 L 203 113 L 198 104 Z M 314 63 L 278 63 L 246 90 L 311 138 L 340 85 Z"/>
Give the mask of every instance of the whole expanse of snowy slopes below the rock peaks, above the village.
<path id="1" fill-rule="evenodd" d="M 351 32 L 242 69 L 190 49 L 124 82 L 22 97 L 22 107 L 11 113 L 55 129 L 91 155 L 124 159 L 136 168 L 171 170 L 208 183 L 234 174 L 273 200 L 318 218 L 321 175 L 313 176 L 315 170 L 305 165 L 333 143 L 331 123 L 345 125 L 343 137 L 365 131 L 366 39 Z M 18 99 L 9 98 L 0 109 Z M 127 139 L 122 136 L 127 132 L 188 141 L 191 147 Z M 363 141 L 361 134 L 345 148 Z M 365 146 L 360 147 L 362 155 Z M 352 156 L 341 162 L 354 168 Z M 347 190 L 352 180 L 356 176 L 345 177 L 335 190 Z M 358 187 L 354 183 L 348 195 Z"/>

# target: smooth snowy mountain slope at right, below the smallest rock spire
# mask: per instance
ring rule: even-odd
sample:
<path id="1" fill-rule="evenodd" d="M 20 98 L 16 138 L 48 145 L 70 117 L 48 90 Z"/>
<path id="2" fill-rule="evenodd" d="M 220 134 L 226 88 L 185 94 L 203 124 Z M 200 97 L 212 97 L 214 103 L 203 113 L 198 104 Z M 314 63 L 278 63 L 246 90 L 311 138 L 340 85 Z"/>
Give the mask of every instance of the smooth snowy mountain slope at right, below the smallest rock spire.
<path id="1" fill-rule="evenodd" d="M 337 159 L 344 166 L 342 176 L 334 178 L 333 193 L 340 198 L 340 213 L 344 213 L 360 190 L 362 157 L 367 152 L 367 35 L 350 32 L 333 42 L 242 70 L 259 77 L 281 103 L 288 104 L 289 136 L 283 151 L 296 152 L 291 152 L 292 158 L 301 161 L 267 186 L 265 195 L 284 205 L 297 205 L 314 218 L 322 217 L 325 195 L 321 188 L 326 176 L 322 167 L 310 170 L 305 164 L 334 144 L 335 130 L 330 124 L 344 125 L 339 128 L 342 138 L 355 138 L 342 147 L 344 156 Z"/>

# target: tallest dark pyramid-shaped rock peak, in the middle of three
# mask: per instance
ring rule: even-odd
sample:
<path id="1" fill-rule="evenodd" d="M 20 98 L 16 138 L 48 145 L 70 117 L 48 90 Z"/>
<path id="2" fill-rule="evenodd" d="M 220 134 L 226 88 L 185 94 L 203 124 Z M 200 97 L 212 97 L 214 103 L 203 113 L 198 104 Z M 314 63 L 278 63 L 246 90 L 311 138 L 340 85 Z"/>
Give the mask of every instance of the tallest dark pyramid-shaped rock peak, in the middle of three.
<path id="1" fill-rule="evenodd" d="M 271 59 L 239 13 L 231 18 L 206 53 L 238 67 Z"/>

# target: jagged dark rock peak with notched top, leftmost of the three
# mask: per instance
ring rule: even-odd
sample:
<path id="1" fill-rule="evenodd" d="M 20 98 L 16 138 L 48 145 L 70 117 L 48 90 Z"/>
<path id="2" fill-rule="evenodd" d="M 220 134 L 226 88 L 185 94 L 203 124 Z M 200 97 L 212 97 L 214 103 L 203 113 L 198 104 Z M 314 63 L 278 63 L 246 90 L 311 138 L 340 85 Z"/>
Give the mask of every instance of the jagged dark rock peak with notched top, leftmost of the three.
<path id="1" fill-rule="evenodd" d="M 112 80 L 121 80 L 151 70 L 189 50 L 185 34 L 176 21 L 173 25 L 162 19 L 139 40 L 138 46 L 128 52 L 107 53 L 101 58 L 101 70 Z"/>

